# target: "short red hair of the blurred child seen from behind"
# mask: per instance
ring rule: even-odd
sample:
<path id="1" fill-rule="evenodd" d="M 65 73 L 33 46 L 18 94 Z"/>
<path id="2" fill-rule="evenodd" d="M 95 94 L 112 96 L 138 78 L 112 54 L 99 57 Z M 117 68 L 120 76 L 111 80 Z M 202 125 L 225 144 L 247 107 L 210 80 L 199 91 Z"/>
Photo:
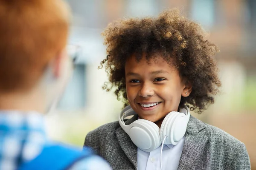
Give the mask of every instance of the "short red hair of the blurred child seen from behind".
<path id="1" fill-rule="evenodd" d="M 67 43 L 62 0 L 0 0 L 0 91 L 32 88 Z"/>

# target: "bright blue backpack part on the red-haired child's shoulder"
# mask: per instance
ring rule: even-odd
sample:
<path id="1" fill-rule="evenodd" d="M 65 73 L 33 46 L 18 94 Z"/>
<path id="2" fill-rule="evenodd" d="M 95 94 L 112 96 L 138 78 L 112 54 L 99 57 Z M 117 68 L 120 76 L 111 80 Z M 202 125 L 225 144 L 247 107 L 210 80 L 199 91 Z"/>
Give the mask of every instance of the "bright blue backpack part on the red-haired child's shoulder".
<path id="1" fill-rule="evenodd" d="M 91 155 L 90 148 L 81 151 L 67 146 L 51 145 L 44 147 L 39 156 L 22 164 L 18 170 L 67 170 L 77 161 Z"/>

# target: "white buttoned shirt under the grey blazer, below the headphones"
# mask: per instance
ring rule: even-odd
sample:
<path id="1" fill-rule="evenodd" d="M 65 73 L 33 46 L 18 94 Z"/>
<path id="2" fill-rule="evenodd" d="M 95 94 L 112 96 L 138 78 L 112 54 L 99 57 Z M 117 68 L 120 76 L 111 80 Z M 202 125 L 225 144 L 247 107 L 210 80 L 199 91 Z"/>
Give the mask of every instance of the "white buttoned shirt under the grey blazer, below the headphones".
<path id="1" fill-rule="evenodd" d="M 184 139 L 180 139 L 177 145 L 164 144 L 162 151 L 162 167 L 163 170 L 177 170 L 180 156 L 182 153 Z M 160 153 L 161 145 L 151 152 L 138 150 L 138 170 L 161 170 L 160 167 Z"/>

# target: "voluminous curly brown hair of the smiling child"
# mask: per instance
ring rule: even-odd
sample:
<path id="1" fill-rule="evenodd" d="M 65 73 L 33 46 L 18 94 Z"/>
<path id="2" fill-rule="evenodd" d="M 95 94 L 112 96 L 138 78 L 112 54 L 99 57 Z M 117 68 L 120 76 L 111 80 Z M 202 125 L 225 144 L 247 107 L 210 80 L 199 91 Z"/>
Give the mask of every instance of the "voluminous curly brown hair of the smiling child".
<path id="1" fill-rule="evenodd" d="M 107 47 L 107 57 L 101 62 L 105 66 L 109 81 L 103 89 L 110 91 L 116 87 L 117 99 L 128 105 L 125 88 L 125 62 L 136 54 L 140 61 L 145 53 L 146 59 L 161 57 L 175 66 L 181 77 L 192 83 L 192 92 L 181 97 L 180 105 L 189 105 L 191 111 L 201 113 L 213 96 L 218 93 L 221 82 L 218 68 L 212 56 L 218 47 L 204 39 L 205 31 L 197 23 L 188 20 L 178 9 L 163 11 L 158 17 L 130 18 L 110 23 L 102 35 Z M 158 55 L 159 56 L 159 55 Z"/>

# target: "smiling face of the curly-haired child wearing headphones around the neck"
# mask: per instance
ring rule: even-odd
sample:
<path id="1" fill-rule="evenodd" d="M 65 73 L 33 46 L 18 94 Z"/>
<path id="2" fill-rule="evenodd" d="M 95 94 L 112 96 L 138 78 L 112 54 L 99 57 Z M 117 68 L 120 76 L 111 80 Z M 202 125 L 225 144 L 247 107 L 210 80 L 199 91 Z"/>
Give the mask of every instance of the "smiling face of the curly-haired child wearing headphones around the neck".
<path id="1" fill-rule="evenodd" d="M 164 117 L 177 111 L 181 96 L 189 96 L 192 87 L 185 83 L 179 71 L 160 54 L 137 62 L 131 56 L 125 63 L 125 82 L 128 102 L 140 118 L 155 122 L 159 127 Z"/>

